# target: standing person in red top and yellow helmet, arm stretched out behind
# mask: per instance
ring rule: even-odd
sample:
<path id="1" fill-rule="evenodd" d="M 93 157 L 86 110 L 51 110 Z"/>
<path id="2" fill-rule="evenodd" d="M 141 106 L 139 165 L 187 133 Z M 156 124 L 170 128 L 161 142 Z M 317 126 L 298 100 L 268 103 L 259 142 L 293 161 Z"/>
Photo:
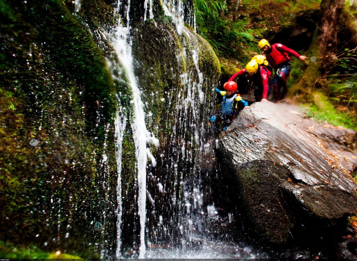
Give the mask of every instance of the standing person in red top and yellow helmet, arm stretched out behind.
<path id="1" fill-rule="evenodd" d="M 280 101 L 287 93 L 286 79 L 290 74 L 290 57 L 288 54 L 295 56 L 300 61 L 303 61 L 306 56 L 299 55 L 297 52 L 282 44 L 273 44 L 270 46 L 269 42 L 262 39 L 258 43 L 260 50 L 265 52 L 267 61 L 275 70 L 273 80 L 273 87 L 276 92 L 277 100 Z M 282 95 L 280 91 L 282 89 Z"/>

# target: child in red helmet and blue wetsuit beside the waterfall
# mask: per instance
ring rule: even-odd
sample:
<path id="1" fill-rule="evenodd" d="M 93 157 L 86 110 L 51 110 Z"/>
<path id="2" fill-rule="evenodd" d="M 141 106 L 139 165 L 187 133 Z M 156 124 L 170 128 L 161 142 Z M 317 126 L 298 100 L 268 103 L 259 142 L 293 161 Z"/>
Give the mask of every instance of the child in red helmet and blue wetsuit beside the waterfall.
<path id="1" fill-rule="evenodd" d="M 225 131 L 227 126 L 232 123 L 237 110 L 248 106 L 248 102 L 243 100 L 240 94 L 235 93 L 237 91 L 236 82 L 226 82 L 223 88 L 225 91 L 220 91 L 218 88 L 215 88 L 216 92 L 223 96 L 223 100 L 220 113 L 213 115 L 210 121 L 215 123 L 223 122 L 223 131 Z"/>

